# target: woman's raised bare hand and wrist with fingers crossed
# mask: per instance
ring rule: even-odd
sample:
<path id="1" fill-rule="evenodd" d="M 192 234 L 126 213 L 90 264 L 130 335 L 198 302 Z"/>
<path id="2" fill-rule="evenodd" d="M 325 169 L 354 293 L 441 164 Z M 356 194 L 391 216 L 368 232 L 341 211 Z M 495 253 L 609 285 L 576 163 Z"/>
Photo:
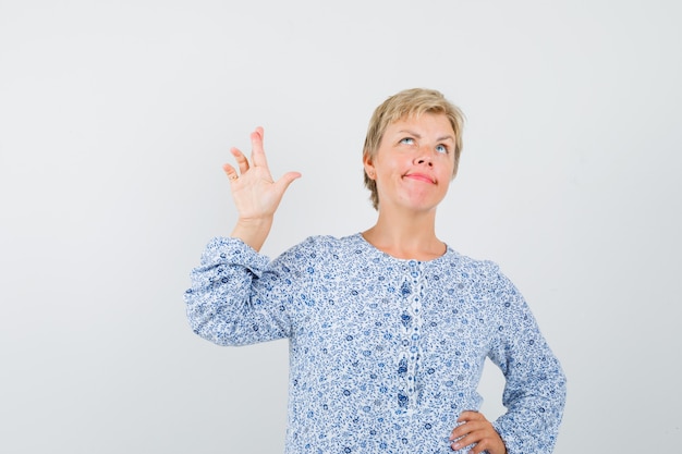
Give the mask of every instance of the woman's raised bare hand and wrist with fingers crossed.
<path id="1" fill-rule="evenodd" d="M 242 151 L 232 148 L 230 152 L 236 160 L 236 168 L 223 164 L 222 170 L 230 179 L 232 198 L 239 212 L 232 236 L 259 250 L 270 232 L 275 211 L 284 192 L 301 174 L 288 172 L 277 182 L 272 180 L 263 149 L 263 127 L 256 127 L 251 133 L 251 162 Z"/>

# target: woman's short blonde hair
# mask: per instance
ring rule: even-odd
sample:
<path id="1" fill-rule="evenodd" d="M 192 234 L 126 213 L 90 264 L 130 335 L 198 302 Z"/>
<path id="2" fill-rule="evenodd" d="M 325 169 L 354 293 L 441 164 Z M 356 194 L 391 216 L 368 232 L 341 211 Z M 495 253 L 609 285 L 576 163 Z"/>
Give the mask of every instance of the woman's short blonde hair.
<path id="1" fill-rule="evenodd" d="M 367 136 L 365 137 L 365 147 L 363 150 L 364 158 L 376 156 L 381 138 L 389 124 L 405 118 L 419 116 L 423 113 L 442 113 L 444 114 L 452 131 L 454 131 L 454 170 L 452 177 L 458 171 L 460 163 L 460 155 L 462 152 L 462 128 L 464 127 L 464 114 L 462 111 L 448 101 L 446 97 L 437 90 L 427 88 L 410 88 L 402 90 L 383 101 L 376 108 L 369 126 L 367 127 Z M 372 193 L 370 199 L 374 209 L 379 208 L 379 194 L 377 193 L 377 183 L 365 173 L 365 186 Z"/>

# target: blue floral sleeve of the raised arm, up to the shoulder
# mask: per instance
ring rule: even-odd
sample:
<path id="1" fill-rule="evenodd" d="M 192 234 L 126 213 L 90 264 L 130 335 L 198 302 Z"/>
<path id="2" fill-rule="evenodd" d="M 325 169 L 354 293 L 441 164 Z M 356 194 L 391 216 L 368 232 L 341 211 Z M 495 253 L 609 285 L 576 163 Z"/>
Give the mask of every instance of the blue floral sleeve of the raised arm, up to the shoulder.
<path id="1" fill-rule="evenodd" d="M 317 292 L 310 270 L 322 269 L 329 247 L 310 236 L 269 261 L 241 240 L 211 240 L 185 292 L 193 331 L 219 345 L 295 335 Z"/>

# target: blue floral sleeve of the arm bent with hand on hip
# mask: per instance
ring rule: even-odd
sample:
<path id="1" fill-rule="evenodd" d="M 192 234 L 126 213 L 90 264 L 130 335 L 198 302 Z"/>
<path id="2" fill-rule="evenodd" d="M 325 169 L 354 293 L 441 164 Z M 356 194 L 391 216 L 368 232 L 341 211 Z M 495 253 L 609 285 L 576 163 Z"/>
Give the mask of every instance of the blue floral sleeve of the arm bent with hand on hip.
<path id="1" fill-rule="evenodd" d="M 489 357 L 504 375 L 502 403 L 508 412 L 492 425 L 508 454 L 548 454 L 563 416 L 565 376 L 521 293 L 499 271 L 496 274 L 499 318 Z"/>

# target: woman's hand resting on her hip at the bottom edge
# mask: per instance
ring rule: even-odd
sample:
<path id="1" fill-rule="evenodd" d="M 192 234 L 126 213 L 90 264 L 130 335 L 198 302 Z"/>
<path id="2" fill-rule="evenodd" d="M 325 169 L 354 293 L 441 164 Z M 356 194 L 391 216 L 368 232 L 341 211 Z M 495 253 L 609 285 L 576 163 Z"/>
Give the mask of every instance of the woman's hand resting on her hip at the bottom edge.
<path id="1" fill-rule="evenodd" d="M 462 412 L 458 418 L 460 426 L 455 427 L 450 434 L 451 447 L 454 451 L 476 443 L 470 451 L 471 454 L 507 454 L 507 446 L 497 433 L 492 424 L 478 412 Z"/>

